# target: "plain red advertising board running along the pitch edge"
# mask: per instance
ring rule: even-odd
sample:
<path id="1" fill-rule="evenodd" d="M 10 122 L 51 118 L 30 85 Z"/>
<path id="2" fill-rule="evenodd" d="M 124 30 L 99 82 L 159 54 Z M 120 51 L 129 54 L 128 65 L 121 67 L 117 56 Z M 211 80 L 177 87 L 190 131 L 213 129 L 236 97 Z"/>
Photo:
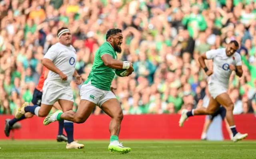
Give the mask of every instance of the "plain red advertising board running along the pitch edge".
<path id="1" fill-rule="evenodd" d="M 6 118 L 0 116 L 0 139 L 8 139 L 4 135 Z M 205 116 L 189 118 L 184 127 L 178 126 L 180 115 L 125 115 L 122 121 L 120 139 L 200 139 Z M 44 118 L 34 116 L 21 121 L 22 128 L 14 131 L 15 139 L 56 139 L 58 122 L 43 125 Z M 108 124 L 110 117 L 106 115 L 90 116 L 83 124 L 74 124 L 75 139 L 109 139 Z M 248 133 L 247 139 L 256 139 L 256 117 L 254 114 L 236 115 L 236 127 L 241 133 Z M 222 124 L 225 139 L 229 139 L 225 125 Z"/>

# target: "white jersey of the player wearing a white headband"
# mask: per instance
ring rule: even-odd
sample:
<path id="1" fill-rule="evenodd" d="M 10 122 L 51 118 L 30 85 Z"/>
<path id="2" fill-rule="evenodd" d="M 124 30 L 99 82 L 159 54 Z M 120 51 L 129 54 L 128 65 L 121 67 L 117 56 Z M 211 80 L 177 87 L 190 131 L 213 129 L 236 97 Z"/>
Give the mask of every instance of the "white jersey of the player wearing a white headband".
<path id="1" fill-rule="evenodd" d="M 48 49 L 44 58 L 50 59 L 68 77 L 68 80 L 65 81 L 60 78 L 60 75 L 49 71 L 45 82 L 58 82 L 62 85 L 70 85 L 76 65 L 76 50 L 74 47 L 72 45 L 68 47 L 61 43 L 56 43 Z"/>

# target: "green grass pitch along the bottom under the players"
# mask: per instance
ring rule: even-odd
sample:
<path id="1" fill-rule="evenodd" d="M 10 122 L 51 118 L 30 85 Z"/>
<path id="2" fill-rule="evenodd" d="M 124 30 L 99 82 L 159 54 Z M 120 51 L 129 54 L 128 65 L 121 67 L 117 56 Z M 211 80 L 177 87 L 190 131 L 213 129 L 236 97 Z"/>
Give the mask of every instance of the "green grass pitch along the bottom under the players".
<path id="1" fill-rule="evenodd" d="M 108 151 L 109 141 L 79 141 L 84 149 L 66 149 L 57 141 L 0 140 L 0 159 L 255 159 L 256 141 L 132 140 L 125 155 Z"/>

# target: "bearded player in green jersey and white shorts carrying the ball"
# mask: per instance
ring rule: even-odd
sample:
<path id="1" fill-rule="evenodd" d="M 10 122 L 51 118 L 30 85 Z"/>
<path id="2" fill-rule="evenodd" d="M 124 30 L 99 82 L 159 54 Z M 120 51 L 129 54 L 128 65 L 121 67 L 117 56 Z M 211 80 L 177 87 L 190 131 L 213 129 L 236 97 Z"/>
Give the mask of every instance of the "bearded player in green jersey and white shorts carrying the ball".
<path id="1" fill-rule="evenodd" d="M 75 123 L 83 123 L 88 119 L 94 107 L 98 105 L 112 118 L 109 124 L 111 136 L 108 149 L 118 153 L 128 153 L 131 151 L 131 148 L 124 147 L 122 143 L 119 143 L 118 141 L 118 135 L 120 133 L 121 122 L 124 115 L 120 102 L 118 102 L 114 94 L 114 89 L 116 88 L 111 86 L 115 76 L 115 69 L 126 69 L 128 71 L 127 76 L 134 71 L 130 62 L 117 60 L 116 52 L 121 53 L 122 51 L 122 39 L 122 30 L 108 30 L 106 42 L 96 51 L 92 71 L 81 87 L 81 101 L 78 110 L 76 112 L 70 110 L 64 113 L 62 113 L 62 111 L 57 111 L 45 118 L 45 125 L 62 119 Z"/>

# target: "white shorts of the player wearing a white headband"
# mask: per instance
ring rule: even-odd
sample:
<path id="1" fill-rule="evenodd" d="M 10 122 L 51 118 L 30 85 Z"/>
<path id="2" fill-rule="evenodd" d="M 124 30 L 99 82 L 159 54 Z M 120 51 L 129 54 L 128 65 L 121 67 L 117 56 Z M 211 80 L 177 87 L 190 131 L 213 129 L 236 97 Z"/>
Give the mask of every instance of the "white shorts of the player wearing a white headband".
<path id="1" fill-rule="evenodd" d="M 71 86 L 61 86 L 51 82 L 45 82 L 43 86 L 42 104 L 53 105 L 59 99 L 74 102 Z"/>

